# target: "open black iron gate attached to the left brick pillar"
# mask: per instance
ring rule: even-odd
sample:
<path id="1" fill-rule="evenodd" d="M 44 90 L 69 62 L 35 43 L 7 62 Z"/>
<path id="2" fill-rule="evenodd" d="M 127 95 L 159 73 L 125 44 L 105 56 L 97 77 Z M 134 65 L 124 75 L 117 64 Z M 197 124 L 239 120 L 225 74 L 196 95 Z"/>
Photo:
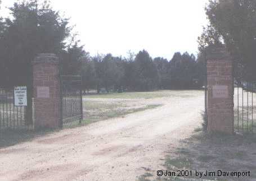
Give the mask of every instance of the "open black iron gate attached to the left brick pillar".
<path id="1" fill-rule="evenodd" d="M 82 77 L 61 76 L 61 127 L 83 120 Z"/>

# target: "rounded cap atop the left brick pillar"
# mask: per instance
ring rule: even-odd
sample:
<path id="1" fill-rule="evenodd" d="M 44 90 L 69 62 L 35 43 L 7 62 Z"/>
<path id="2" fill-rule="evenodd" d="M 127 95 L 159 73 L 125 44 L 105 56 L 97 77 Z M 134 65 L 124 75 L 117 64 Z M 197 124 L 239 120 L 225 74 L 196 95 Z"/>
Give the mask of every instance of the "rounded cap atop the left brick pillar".
<path id="1" fill-rule="evenodd" d="M 59 58 L 54 53 L 40 53 L 35 57 L 33 64 L 38 63 L 52 63 L 52 64 L 59 64 Z"/>

